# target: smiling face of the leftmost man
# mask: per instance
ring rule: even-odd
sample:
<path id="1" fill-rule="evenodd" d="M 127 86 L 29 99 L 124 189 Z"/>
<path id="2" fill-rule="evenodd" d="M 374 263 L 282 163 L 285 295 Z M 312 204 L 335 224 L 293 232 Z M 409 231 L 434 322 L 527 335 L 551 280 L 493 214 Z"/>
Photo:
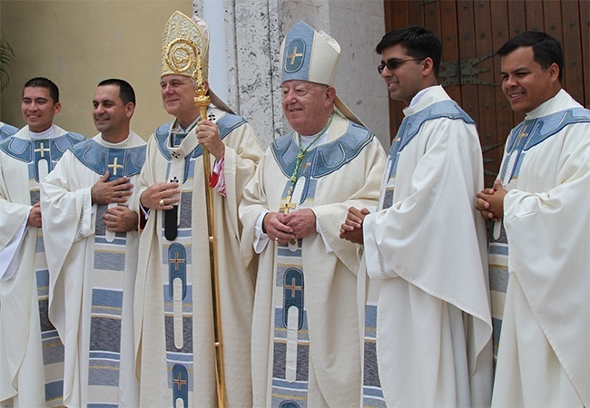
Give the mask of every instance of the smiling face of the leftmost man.
<path id="1" fill-rule="evenodd" d="M 49 89 L 29 86 L 23 90 L 21 112 L 29 131 L 46 131 L 54 123 L 54 116 L 62 110 L 60 102 L 49 96 Z"/>

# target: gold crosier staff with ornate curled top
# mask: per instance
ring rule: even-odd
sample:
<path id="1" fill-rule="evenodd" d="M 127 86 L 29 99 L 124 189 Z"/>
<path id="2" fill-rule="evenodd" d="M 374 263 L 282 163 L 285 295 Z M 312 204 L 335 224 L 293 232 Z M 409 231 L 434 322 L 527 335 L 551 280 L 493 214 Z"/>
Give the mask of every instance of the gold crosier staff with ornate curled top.
<path id="1" fill-rule="evenodd" d="M 183 56 L 177 57 L 174 46 L 182 47 L 182 44 L 188 45 L 192 49 L 192 53 L 182 50 Z M 205 81 L 202 77 L 202 57 L 199 51 L 199 46 L 190 40 L 177 39 L 169 46 L 169 52 L 166 53 L 167 62 L 171 66 L 175 66 L 179 72 L 188 70 L 192 65 L 192 55 L 194 55 L 194 63 L 196 69 L 192 79 L 197 85 L 197 96 L 194 97 L 194 106 L 199 108 L 201 116 L 200 121 L 207 119 L 207 108 L 211 103 L 211 98 L 205 89 Z M 172 61 L 171 61 L 172 60 Z M 182 64 L 184 68 L 181 68 Z M 215 345 L 215 379 L 217 381 L 217 402 L 220 408 L 225 407 L 225 373 L 223 368 L 223 347 L 221 343 L 221 306 L 219 293 L 219 272 L 217 269 L 217 243 L 215 240 L 215 214 L 213 211 L 213 195 L 209 184 L 211 183 L 211 159 L 207 148 L 202 145 L 202 165 L 205 179 L 205 204 L 207 207 L 207 234 L 209 241 L 209 264 L 211 267 L 211 301 L 213 310 L 213 335 Z"/>

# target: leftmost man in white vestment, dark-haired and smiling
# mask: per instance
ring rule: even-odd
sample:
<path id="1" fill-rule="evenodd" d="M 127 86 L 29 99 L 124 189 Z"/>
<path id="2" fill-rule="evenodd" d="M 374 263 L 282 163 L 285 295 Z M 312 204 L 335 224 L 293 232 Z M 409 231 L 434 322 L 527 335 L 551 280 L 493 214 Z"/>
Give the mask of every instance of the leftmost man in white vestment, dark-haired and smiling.
<path id="1" fill-rule="evenodd" d="M 40 180 L 84 136 L 54 125 L 62 109 L 46 78 L 25 83 L 26 126 L 0 141 L 0 406 L 64 404 L 64 345 L 47 316 L 49 274 Z M 43 216 L 43 222 L 47 216 Z"/>

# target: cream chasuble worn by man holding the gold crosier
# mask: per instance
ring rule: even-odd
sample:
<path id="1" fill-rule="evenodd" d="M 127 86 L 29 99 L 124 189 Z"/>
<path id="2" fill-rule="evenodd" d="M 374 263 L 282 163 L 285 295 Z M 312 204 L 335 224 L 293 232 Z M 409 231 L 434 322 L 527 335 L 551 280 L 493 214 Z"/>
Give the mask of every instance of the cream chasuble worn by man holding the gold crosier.
<path id="1" fill-rule="evenodd" d="M 262 151 L 241 117 L 210 108 L 208 118 L 225 144 L 226 196 L 212 194 L 226 403 L 247 407 L 253 277 L 239 258 L 237 207 Z M 166 214 L 150 210 L 140 243 L 135 297 L 140 405 L 212 407 L 218 402 L 204 197 L 210 187 L 204 185 L 202 146 L 195 131 L 167 123 L 148 143 L 141 189 L 172 180 L 181 186 L 178 206 Z"/>

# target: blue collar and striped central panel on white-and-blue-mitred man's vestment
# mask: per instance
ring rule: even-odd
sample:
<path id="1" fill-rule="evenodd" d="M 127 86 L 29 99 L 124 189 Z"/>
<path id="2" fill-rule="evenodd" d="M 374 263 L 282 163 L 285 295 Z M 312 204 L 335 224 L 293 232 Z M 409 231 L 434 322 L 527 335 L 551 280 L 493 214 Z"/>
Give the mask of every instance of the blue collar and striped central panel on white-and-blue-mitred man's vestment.
<path id="1" fill-rule="evenodd" d="M 307 151 L 300 163 L 297 183 L 289 197 L 290 177 L 296 167 L 299 146 L 289 133 L 271 145 L 272 153 L 287 177 L 280 212 L 313 207 L 318 180 L 353 160 L 373 140 L 365 128 L 349 122 L 348 131 L 335 141 Z M 302 239 L 276 245 L 274 267 L 274 331 L 272 334 L 273 407 L 307 407 L 310 378 L 310 339 L 305 302 Z"/>

